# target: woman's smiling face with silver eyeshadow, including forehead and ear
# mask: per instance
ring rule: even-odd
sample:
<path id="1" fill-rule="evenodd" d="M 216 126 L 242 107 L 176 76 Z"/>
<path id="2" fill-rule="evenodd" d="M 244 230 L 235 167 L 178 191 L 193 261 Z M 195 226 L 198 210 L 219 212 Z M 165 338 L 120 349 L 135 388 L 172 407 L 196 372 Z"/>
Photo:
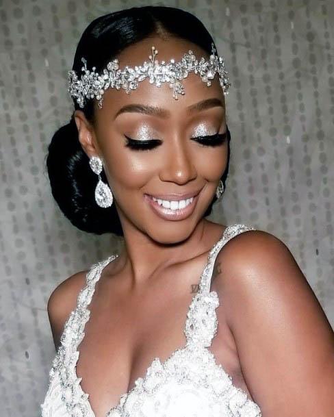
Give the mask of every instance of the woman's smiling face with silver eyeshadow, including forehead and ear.
<path id="1" fill-rule="evenodd" d="M 148 38 L 118 55 L 120 67 L 148 61 L 152 45 L 159 62 L 180 60 L 189 49 L 197 58 L 209 58 L 185 40 Z M 84 151 L 103 160 L 125 238 L 131 230 L 165 244 L 188 238 L 203 220 L 227 167 L 218 75 L 211 86 L 194 73 L 182 83 L 185 94 L 178 94 L 178 100 L 168 83 L 157 87 L 147 79 L 129 94 L 110 88 L 103 108 L 95 103 L 94 125 L 83 112 L 75 112 Z"/>

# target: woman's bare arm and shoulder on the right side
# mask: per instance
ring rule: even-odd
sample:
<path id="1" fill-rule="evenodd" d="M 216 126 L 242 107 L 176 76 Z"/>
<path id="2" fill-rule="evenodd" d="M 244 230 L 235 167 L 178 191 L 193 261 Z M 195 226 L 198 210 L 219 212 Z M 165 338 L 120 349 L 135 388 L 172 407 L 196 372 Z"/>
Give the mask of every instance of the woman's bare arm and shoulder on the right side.
<path id="1" fill-rule="evenodd" d="M 218 254 L 218 287 L 262 417 L 333 417 L 334 333 L 281 240 L 247 231 Z"/>

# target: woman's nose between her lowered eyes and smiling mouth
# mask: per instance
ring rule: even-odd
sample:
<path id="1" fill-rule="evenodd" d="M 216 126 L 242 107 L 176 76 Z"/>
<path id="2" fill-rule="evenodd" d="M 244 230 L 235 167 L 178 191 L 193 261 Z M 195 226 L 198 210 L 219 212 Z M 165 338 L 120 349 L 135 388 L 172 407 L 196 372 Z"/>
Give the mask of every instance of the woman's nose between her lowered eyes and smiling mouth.
<path id="1" fill-rule="evenodd" d="M 192 157 L 184 138 L 172 138 L 170 146 L 166 148 L 164 161 L 159 175 L 162 181 L 182 185 L 197 176 L 194 157 Z"/>

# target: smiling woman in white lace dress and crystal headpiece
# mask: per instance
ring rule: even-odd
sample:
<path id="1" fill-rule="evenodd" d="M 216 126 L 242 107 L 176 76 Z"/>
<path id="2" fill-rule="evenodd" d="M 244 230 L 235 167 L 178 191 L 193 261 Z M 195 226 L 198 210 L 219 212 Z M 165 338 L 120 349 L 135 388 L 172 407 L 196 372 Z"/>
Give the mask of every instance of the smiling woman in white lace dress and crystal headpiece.
<path id="1" fill-rule="evenodd" d="M 289 249 L 205 218 L 229 166 L 213 46 L 192 14 L 157 6 L 101 16 L 79 41 L 52 192 L 73 225 L 125 245 L 50 296 L 43 417 L 332 415 L 333 331 Z"/>

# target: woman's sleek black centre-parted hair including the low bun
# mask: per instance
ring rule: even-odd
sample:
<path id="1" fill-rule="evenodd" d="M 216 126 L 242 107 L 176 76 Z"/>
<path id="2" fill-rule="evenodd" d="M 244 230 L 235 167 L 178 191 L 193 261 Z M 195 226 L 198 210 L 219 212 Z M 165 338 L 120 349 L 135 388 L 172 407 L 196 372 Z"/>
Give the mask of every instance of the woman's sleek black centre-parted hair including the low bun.
<path id="1" fill-rule="evenodd" d="M 84 57 L 88 68 L 95 66 L 100 72 L 123 49 L 152 35 L 189 40 L 209 54 L 211 43 L 214 43 L 203 23 L 185 10 L 150 5 L 129 8 L 100 16 L 86 27 L 77 45 L 72 69 L 81 73 L 81 58 Z M 82 110 L 87 120 L 94 123 L 94 99 L 86 100 L 82 109 L 75 99 L 73 103 L 75 110 Z M 228 138 L 230 142 L 229 135 Z M 230 144 L 227 168 L 221 177 L 224 186 L 229 171 L 229 155 Z M 123 236 L 116 205 L 103 208 L 95 201 L 97 175 L 92 172 L 89 158 L 79 142 L 74 114 L 69 123 L 53 135 L 48 148 L 47 171 L 53 197 L 75 227 L 98 235 L 115 233 Z M 101 179 L 108 183 L 103 170 Z M 209 216 L 214 201 L 216 196 L 204 216 Z"/>

